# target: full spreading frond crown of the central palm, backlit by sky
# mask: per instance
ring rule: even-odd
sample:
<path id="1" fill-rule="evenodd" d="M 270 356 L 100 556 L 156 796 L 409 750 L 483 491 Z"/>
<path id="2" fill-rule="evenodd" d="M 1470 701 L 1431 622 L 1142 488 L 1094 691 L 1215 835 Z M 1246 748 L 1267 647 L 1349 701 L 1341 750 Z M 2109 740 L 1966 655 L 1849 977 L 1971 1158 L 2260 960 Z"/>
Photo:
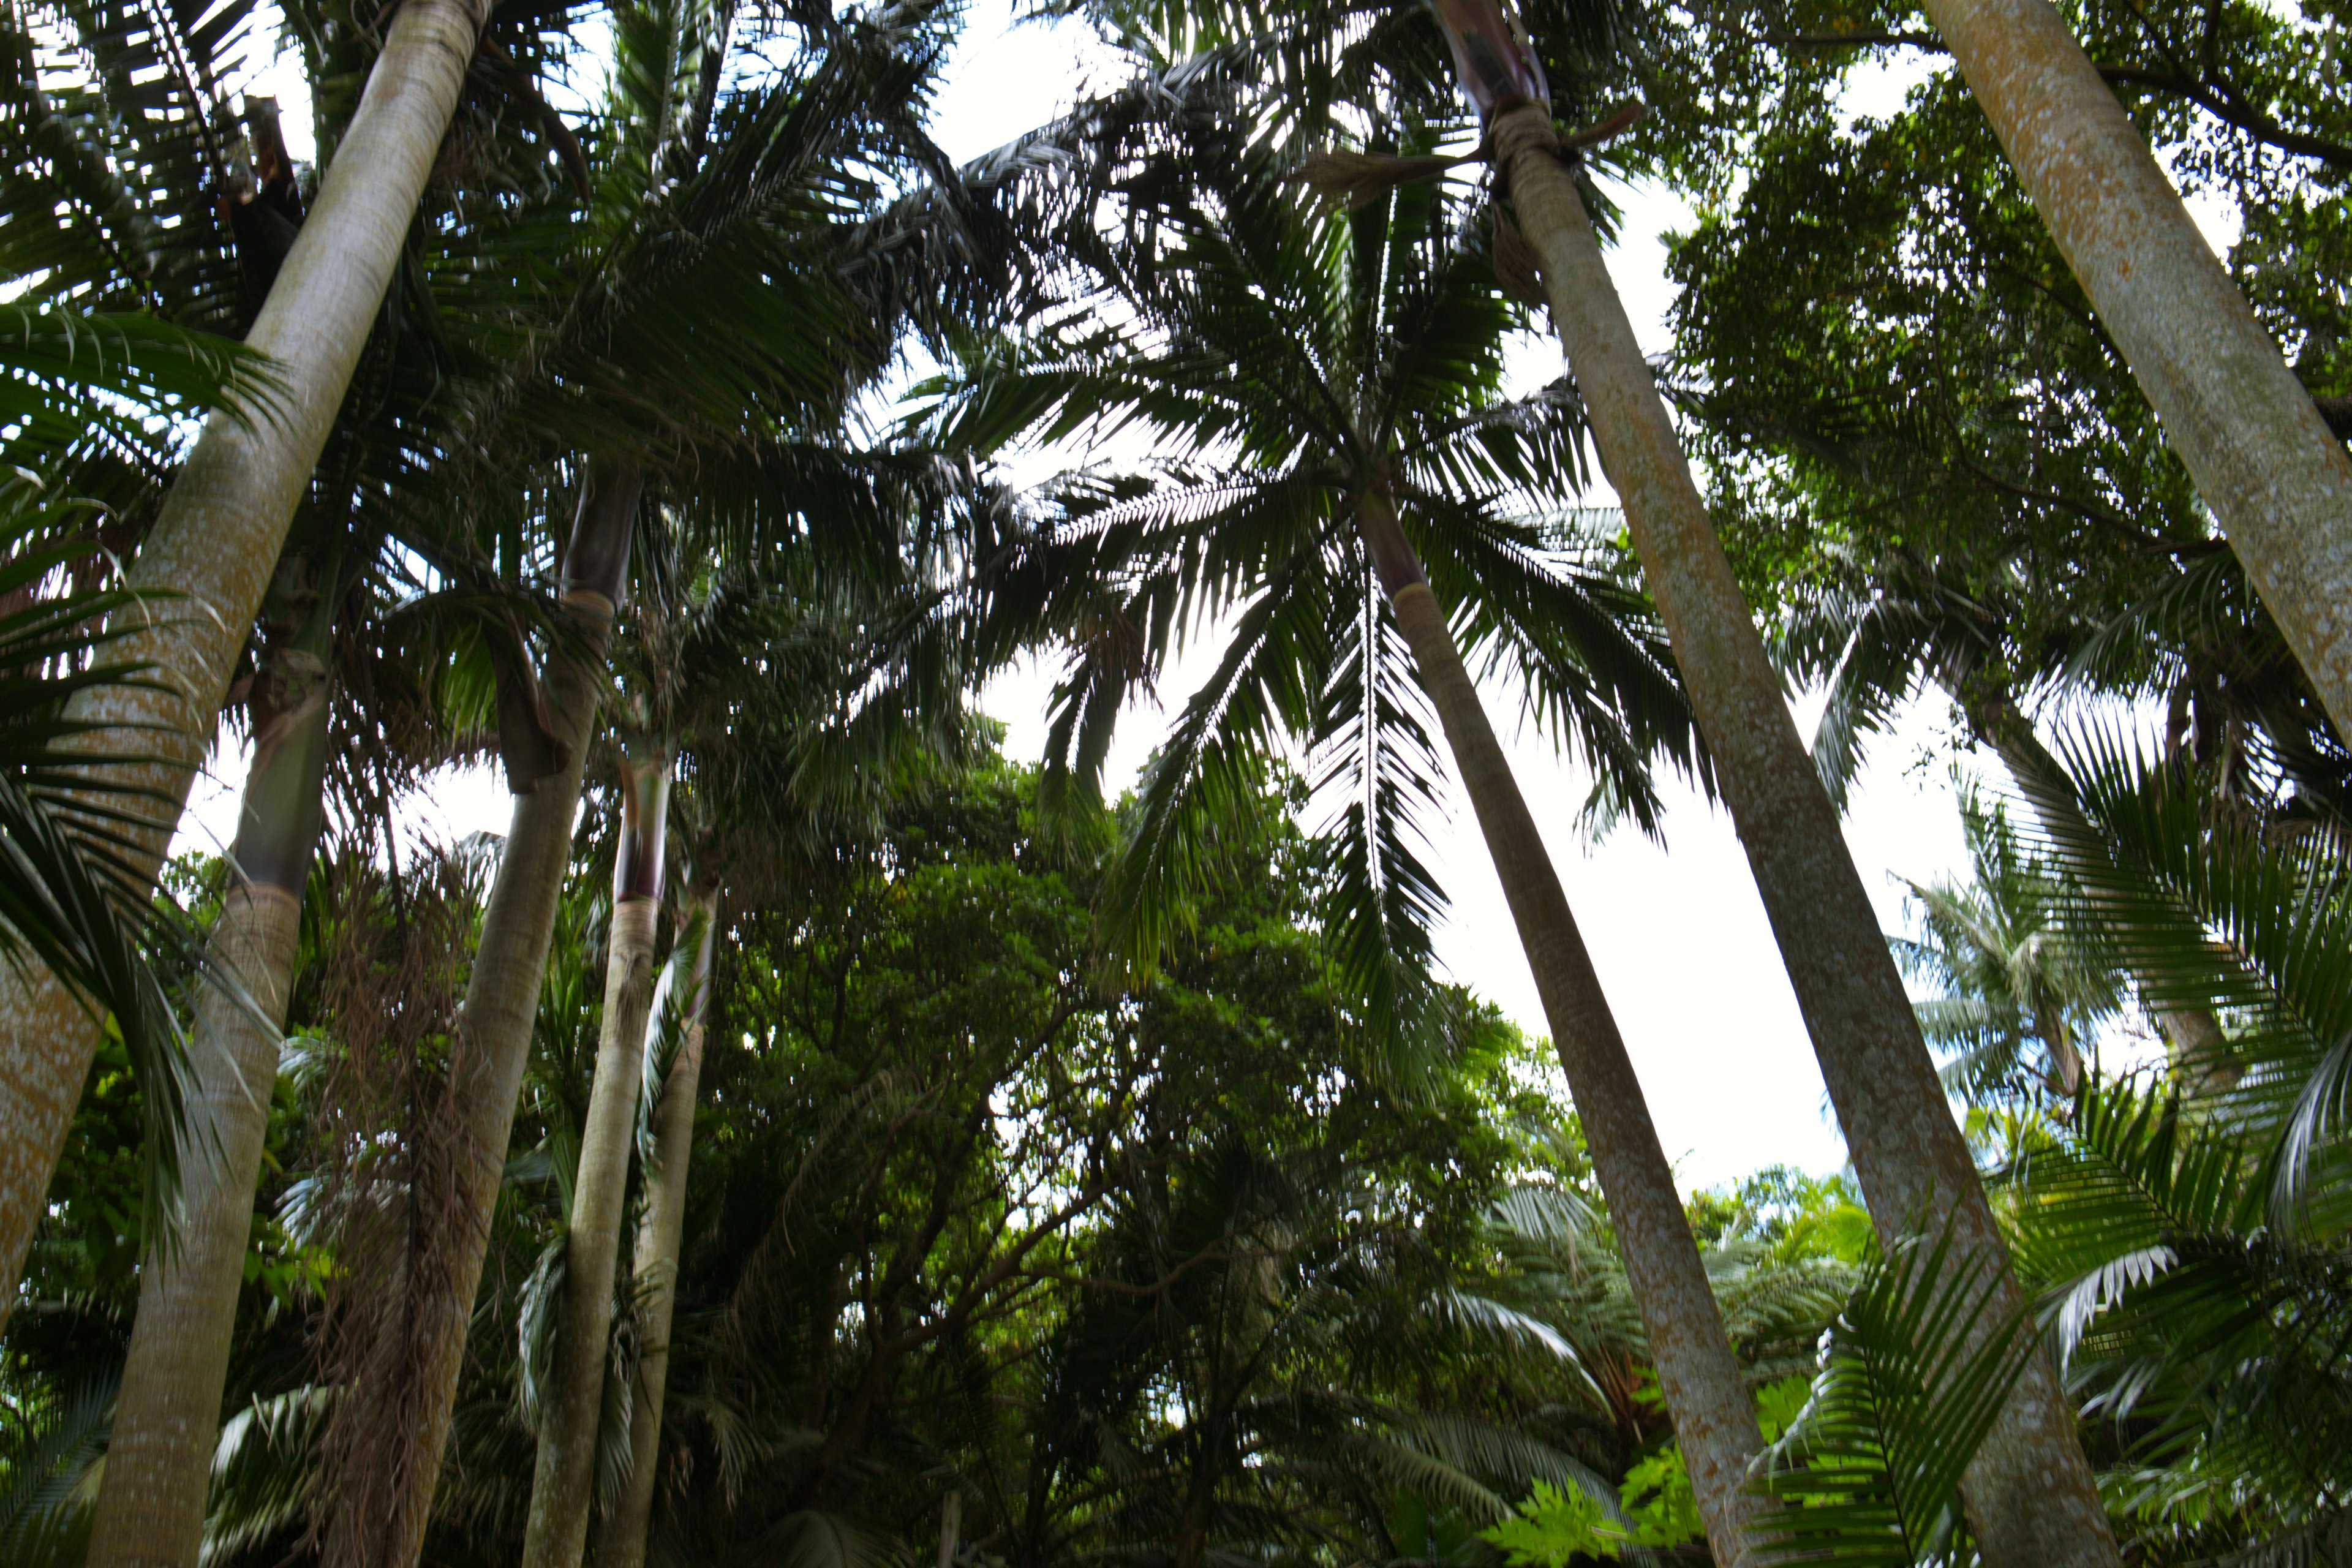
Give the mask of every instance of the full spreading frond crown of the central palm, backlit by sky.
<path id="1" fill-rule="evenodd" d="M 1160 912 L 1216 856 L 1211 823 L 1287 736 L 1338 802 L 1331 922 L 1381 1011 L 1418 985 L 1442 898 L 1409 846 L 1437 755 L 1359 498 L 1402 505 L 1468 642 L 1524 682 L 1526 710 L 1592 769 L 1590 813 L 1656 827 L 1651 757 L 1698 773 L 1705 759 L 1613 555 L 1522 515 L 1583 482 L 1578 402 L 1564 381 L 1498 397 L 1517 315 L 1477 205 L 1418 186 L 1317 212 L 1228 129 L 1242 120 L 1155 127 L 1167 141 L 1120 172 L 1134 195 L 1094 247 L 1084 310 L 924 390 L 953 444 L 1129 425 L 1155 442 L 1143 477 L 1073 487 L 1044 545 L 1110 585 L 1098 618 L 1148 628 L 1141 656 L 1134 637 L 1094 637 L 1073 661 L 1049 776 L 1091 790 L 1120 701 L 1176 628 L 1230 623 L 1216 672 L 1145 771 L 1115 929 L 1134 952 L 1157 943 Z"/>

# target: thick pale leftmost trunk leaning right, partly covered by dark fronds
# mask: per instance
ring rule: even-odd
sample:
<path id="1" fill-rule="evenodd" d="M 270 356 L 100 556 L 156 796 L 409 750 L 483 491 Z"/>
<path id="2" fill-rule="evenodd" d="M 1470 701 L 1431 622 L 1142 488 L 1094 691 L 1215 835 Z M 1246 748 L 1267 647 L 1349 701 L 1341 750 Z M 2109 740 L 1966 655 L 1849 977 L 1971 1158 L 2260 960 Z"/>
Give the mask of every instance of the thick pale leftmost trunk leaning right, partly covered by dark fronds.
<path id="1" fill-rule="evenodd" d="M 230 414 L 205 423 L 153 536 L 132 564 L 134 590 L 174 590 L 191 599 L 118 644 L 120 658 L 153 665 L 165 689 L 99 689 L 68 705 L 73 719 L 125 726 L 94 736 L 94 745 L 143 757 L 106 766 L 103 778 L 151 792 L 143 802 L 108 799 L 146 818 L 136 837 L 139 870 L 148 879 L 162 867 L 188 799 L 188 778 L 212 741 L 228 677 L 278 567 L 294 503 L 310 482 L 383 303 L 383 284 L 449 129 L 485 12 L 482 0 L 409 0 L 393 16 L 318 205 L 247 339 L 278 362 L 285 390 L 273 407 L 252 411 L 249 423 Z M 24 1272 L 24 1253 L 45 1213 L 49 1173 L 56 1171 L 96 1046 L 99 1025 L 78 992 L 40 966 L 0 973 L 5 1279 Z"/>

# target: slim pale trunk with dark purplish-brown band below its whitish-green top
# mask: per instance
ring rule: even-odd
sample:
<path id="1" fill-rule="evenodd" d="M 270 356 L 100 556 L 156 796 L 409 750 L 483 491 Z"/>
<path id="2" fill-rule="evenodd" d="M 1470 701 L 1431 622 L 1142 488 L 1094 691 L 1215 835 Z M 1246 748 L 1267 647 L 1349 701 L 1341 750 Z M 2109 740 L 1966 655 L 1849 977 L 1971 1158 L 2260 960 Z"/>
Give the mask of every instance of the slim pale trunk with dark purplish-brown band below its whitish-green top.
<path id="1" fill-rule="evenodd" d="M 595 1500 L 597 1427 L 612 1345 L 612 1279 L 621 1253 L 628 1152 L 637 1143 L 644 1020 L 654 1001 L 654 922 L 670 820 L 670 755 L 621 759 L 621 844 L 612 865 L 604 943 L 604 1020 L 597 1032 L 588 1124 L 564 1237 L 564 1314 L 555 1326 L 555 1387 L 539 1429 L 522 1568 L 576 1568 Z"/>

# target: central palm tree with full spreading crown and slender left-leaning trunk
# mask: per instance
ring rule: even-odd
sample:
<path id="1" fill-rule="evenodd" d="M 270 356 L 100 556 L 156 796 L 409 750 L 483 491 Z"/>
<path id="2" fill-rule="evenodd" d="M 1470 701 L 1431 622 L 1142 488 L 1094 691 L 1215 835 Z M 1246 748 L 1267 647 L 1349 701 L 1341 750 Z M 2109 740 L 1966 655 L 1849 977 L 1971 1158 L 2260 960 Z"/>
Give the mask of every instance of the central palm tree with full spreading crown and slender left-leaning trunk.
<path id="1" fill-rule="evenodd" d="M 1348 219 L 1308 216 L 1272 158 L 1228 127 L 1174 115 L 1167 158 L 1134 174 L 1145 190 L 1176 169 L 1188 181 L 1138 200 L 1127 244 L 1096 259 L 1131 324 L 978 367 L 948 418 L 950 435 L 1141 421 L 1223 470 L 1082 517 L 1082 536 L 1136 536 L 1136 588 L 1110 611 L 1127 625 L 1247 597 L 1216 675 L 1143 780 L 1115 922 L 1136 957 L 1157 945 L 1155 905 L 1207 875 L 1216 811 L 1287 729 L 1350 795 L 1334 851 L 1343 952 L 1369 997 L 1409 1013 L 1399 1001 L 1416 990 L 1435 889 L 1399 827 L 1435 757 L 1409 708 L 1402 637 L 1519 924 L 1710 1535 L 1733 1561 L 1752 1507 L 1738 1479 L 1762 1446 L 1755 1413 L 1639 1081 L 1435 592 L 1458 599 L 1463 628 L 1498 658 L 1522 661 L 1534 701 L 1602 771 L 1597 795 L 1649 820 L 1644 757 L 1689 731 L 1646 621 L 1616 581 L 1496 508 L 1576 480 L 1576 402 L 1557 386 L 1486 402 L 1510 306 L 1482 247 L 1456 233 L 1454 202 L 1414 188 Z M 1131 658 L 1115 639 L 1089 649 L 1063 686 L 1063 736 L 1077 708 L 1120 689 L 1087 665 Z M 1087 729 L 1091 771 L 1103 724 Z"/>

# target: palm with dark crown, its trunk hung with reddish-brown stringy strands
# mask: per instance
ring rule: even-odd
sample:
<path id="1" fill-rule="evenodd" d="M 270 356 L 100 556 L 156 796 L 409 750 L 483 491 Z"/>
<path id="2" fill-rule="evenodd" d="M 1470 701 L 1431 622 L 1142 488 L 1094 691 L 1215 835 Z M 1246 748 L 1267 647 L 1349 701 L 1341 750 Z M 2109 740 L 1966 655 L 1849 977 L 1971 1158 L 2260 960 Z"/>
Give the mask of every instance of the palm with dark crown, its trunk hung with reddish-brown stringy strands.
<path id="1" fill-rule="evenodd" d="M 656 52 L 666 38 L 703 40 L 696 47 L 724 38 L 694 31 L 696 16 L 673 9 L 637 21 Z M 727 96 L 694 103 L 668 92 L 668 73 L 616 73 L 614 134 L 597 139 L 604 162 L 586 221 L 553 228 L 562 254 L 546 254 L 550 228 L 517 223 L 482 235 L 473 261 L 475 277 L 517 280 L 510 287 L 524 294 L 550 266 L 576 287 L 550 313 L 548 331 L 517 346 L 473 395 L 442 444 L 442 503 L 489 475 L 482 454 L 499 449 L 503 430 L 527 444 L 557 430 L 604 456 L 588 465 L 562 555 L 579 625 L 550 646 L 543 689 L 532 689 L 527 663 L 501 675 L 501 748 L 517 802 L 466 987 L 466 1051 L 452 1088 L 461 1119 L 437 1133 L 454 1171 L 449 1211 L 426 1227 L 430 1284 L 419 1288 L 407 1354 L 393 1361 L 390 1382 L 334 1413 L 346 1434 L 390 1420 L 414 1441 L 397 1465 L 336 1483 L 329 1554 L 339 1561 L 412 1563 L 423 1544 L 604 684 L 602 649 L 640 527 L 637 496 L 666 494 L 661 463 L 701 475 L 729 451 L 760 451 L 779 430 L 837 418 L 889 339 L 875 292 L 835 261 L 866 233 L 854 226 L 873 202 L 863 169 L 915 139 L 910 113 L 938 56 L 938 19 L 924 5 L 887 9 L 802 42 L 790 71 L 743 75 Z M 717 73 L 720 61 L 706 68 Z M 708 150 L 668 162 L 673 148 L 701 139 L 699 127 L 713 127 Z M 652 169 L 668 174 L 649 179 Z M 882 275 L 887 282 L 887 268 Z M 680 484 L 680 496 L 691 498 L 696 484 L 701 477 Z M 793 538 L 769 536 L 779 548 L 856 548 L 858 538 L 844 538 L 856 529 L 826 520 L 873 517 L 875 508 L 856 487 L 816 487 L 790 494 L 779 512 L 816 517 Z M 633 1095 L 635 1072 L 621 1077 Z"/>

